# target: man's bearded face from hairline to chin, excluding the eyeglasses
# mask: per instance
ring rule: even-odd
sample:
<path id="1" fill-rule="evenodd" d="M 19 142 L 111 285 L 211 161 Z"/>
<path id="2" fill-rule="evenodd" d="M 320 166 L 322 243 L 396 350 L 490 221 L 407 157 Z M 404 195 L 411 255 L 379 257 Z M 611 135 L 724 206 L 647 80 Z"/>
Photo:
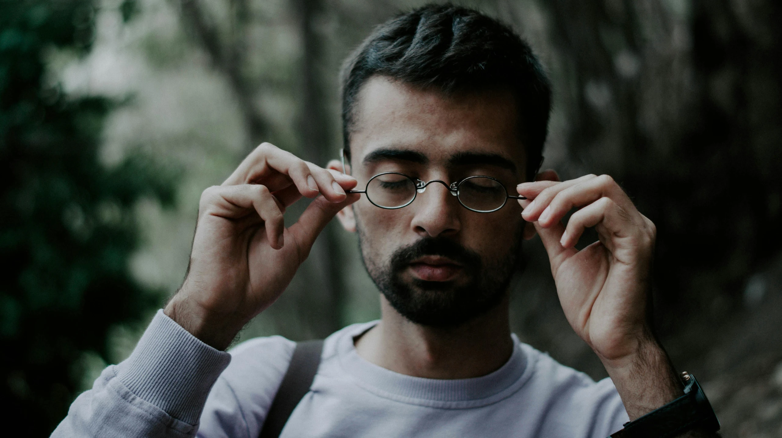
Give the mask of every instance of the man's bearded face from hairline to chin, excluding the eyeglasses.
<path id="1" fill-rule="evenodd" d="M 374 77 L 361 89 L 351 134 L 352 174 L 363 190 L 372 176 L 398 172 L 453 183 L 500 180 L 509 194 L 524 181 L 513 98 L 501 91 L 447 96 Z M 397 312 L 427 326 L 456 326 L 502 301 L 522 237 L 522 208 L 462 207 L 432 183 L 407 207 L 353 204 L 364 265 Z M 350 212 L 340 215 L 352 228 Z"/>

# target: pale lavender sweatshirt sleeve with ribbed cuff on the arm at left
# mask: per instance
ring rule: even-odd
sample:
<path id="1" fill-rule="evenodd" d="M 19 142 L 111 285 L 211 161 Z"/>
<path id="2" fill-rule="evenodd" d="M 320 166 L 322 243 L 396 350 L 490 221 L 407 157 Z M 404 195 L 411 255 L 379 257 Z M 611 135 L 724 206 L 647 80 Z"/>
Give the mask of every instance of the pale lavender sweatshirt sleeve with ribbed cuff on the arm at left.
<path id="1" fill-rule="evenodd" d="M 103 370 L 52 437 L 195 436 L 206 397 L 230 361 L 159 310 L 131 356 Z"/>

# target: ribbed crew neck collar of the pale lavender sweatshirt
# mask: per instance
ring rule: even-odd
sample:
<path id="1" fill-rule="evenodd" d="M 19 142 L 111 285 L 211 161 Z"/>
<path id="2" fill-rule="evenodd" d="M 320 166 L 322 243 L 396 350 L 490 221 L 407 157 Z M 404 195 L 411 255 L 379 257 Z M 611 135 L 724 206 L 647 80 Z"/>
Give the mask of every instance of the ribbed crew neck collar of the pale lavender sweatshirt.
<path id="1" fill-rule="evenodd" d="M 346 327 L 336 340 L 340 366 L 355 382 L 380 397 L 436 408 L 475 408 L 510 397 L 529 379 L 526 354 L 513 338 L 511 358 L 497 371 L 470 379 L 426 379 L 393 372 L 358 355 L 353 338 L 378 321 Z"/>

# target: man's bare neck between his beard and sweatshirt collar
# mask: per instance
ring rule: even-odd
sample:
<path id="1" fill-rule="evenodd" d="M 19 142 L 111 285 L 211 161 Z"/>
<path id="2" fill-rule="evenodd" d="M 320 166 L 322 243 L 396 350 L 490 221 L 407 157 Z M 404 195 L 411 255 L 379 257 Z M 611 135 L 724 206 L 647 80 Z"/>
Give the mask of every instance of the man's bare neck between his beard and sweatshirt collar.
<path id="1" fill-rule="evenodd" d="M 380 323 L 356 340 L 366 361 L 407 376 L 468 379 L 500 369 L 511 357 L 508 295 L 490 311 L 456 327 L 421 326 L 380 296 Z"/>

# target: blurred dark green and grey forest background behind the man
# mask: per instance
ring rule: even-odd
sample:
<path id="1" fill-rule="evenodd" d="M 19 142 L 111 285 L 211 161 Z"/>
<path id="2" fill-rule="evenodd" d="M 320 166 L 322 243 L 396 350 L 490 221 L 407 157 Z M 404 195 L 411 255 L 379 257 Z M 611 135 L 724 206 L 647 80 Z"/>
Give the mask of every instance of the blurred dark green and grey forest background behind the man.
<path id="1" fill-rule="evenodd" d="M 782 5 L 458 3 L 511 24 L 550 72 L 543 166 L 611 174 L 657 224 L 658 332 L 705 383 L 725 436 L 782 436 Z M 0 0 L 10 429 L 48 436 L 129 354 L 181 283 L 200 192 L 256 144 L 321 165 L 339 156 L 342 60 L 375 24 L 421 4 Z M 515 332 L 602 378 L 562 315 L 540 242 L 524 251 Z M 242 339 L 325 337 L 378 315 L 356 238 L 332 223 Z"/>

